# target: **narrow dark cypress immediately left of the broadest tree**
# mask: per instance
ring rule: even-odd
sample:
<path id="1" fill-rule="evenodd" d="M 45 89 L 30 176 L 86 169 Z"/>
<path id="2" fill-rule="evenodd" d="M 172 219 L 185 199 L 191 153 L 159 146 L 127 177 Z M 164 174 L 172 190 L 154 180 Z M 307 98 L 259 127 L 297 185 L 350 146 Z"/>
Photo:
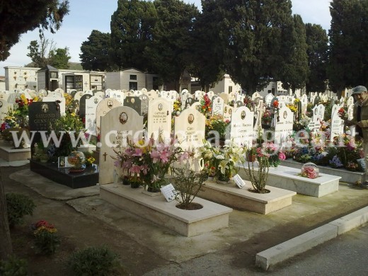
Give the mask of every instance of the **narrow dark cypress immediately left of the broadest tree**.
<path id="1" fill-rule="evenodd" d="M 225 74 L 221 51 L 215 50 L 219 33 L 217 23 L 211 18 L 216 11 L 213 1 L 202 1 L 202 13 L 193 31 L 192 67 L 189 71 L 199 79 L 203 91 L 209 91 L 209 87 L 221 81 Z"/>

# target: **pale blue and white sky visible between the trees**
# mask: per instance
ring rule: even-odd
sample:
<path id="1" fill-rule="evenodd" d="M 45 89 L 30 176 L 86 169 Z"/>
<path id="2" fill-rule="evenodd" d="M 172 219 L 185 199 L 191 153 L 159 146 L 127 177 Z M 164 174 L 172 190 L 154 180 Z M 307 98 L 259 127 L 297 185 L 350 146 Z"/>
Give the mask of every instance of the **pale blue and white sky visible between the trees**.
<path id="1" fill-rule="evenodd" d="M 201 10 L 200 0 L 184 0 L 195 4 Z M 45 32 L 45 38 L 53 40 L 57 48 L 69 48 L 69 62 L 80 62 L 82 42 L 91 35 L 92 30 L 110 33 L 111 16 L 117 9 L 117 0 L 69 0 L 69 14 L 64 17 L 62 27 L 55 34 Z M 292 0 L 293 14 L 299 14 L 304 23 L 319 24 L 325 30 L 330 28 L 330 0 Z M 4 67 L 23 67 L 31 62 L 28 45 L 31 40 L 39 40 L 38 30 L 21 35 L 18 44 L 11 48 L 10 56 L 0 62 L 0 76 Z"/>

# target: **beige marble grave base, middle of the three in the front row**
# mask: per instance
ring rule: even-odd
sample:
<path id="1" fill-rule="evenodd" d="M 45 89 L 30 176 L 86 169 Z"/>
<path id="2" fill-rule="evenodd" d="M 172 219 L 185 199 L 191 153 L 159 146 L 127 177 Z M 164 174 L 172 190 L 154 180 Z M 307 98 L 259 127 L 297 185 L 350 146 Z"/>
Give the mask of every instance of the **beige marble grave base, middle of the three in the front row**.
<path id="1" fill-rule="evenodd" d="M 265 187 L 270 190 L 266 194 L 249 192 L 248 189 L 252 188 L 252 184 L 247 180 L 245 182 L 246 185 L 240 189 L 235 183 L 220 184 L 206 181 L 198 196 L 235 209 L 268 214 L 292 205 L 292 197 L 297 195 L 296 192 L 270 186 Z"/>

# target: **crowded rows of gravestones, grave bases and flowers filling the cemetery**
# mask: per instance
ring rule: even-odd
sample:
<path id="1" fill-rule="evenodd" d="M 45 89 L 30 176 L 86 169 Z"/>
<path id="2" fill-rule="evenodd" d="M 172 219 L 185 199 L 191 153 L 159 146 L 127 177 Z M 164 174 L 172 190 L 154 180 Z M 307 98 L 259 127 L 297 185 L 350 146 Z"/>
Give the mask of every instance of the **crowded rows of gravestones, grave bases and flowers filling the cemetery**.
<path id="1" fill-rule="evenodd" d="M 352 97 L 0 93 L 1 158 L 29 159 L 31 171 L 71 189 L 98 185 L 102 200 L 183 236 L 229 227 L 233 209 L 277 212 L 294 195 L 323 197 L 364 175 L 362 143 L 344 125 Z M 181 179 L 194 171 L 205 182 L 180 186 L 180 168 Z"/>

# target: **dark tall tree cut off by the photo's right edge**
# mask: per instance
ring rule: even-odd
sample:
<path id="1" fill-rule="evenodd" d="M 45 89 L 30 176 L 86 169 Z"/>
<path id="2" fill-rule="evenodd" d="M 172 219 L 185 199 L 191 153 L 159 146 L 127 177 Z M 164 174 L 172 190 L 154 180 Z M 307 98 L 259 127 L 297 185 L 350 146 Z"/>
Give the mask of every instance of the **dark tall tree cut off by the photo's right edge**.
<path id="1" fill-rule="evenodd" d="M 328 81 L 340 96 L 345 87 L 368 84 L 368 0 L 333 0 Z"/>

